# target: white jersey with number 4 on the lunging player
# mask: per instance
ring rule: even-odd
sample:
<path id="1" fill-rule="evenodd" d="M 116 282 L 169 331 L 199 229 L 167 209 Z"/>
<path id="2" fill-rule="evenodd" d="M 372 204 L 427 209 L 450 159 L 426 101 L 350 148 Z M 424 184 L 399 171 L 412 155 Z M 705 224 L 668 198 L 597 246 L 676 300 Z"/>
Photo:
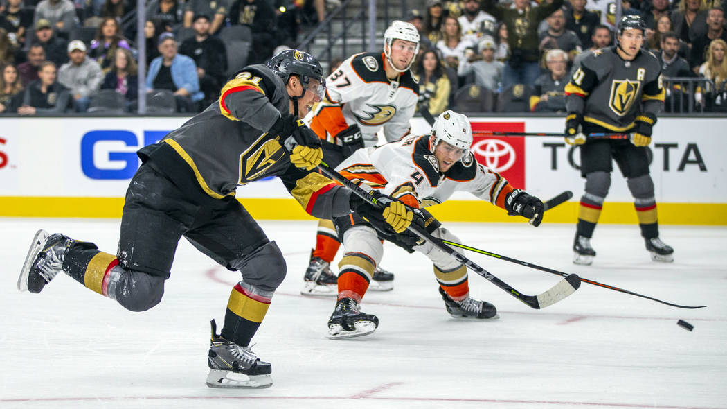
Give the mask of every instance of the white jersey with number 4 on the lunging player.
<path id="1" fill-rule="evenodd" d="M 346 178 L 359 179 L 411 207 L 439 204 L 455 191 L 467 191 L 504 209 L 505 196 L 513 187 L 473 156 L 467 157 L 469 161 L 458 161 L 441 173 L 430 135 L 409 135 L 378 148 L 358 149 L 336 169 Z"/>

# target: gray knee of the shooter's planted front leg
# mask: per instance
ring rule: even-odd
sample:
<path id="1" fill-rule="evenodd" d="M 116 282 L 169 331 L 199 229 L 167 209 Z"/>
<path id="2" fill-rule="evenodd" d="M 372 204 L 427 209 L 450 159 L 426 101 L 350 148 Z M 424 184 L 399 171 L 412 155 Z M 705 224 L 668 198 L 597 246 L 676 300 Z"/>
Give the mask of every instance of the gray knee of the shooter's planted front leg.
<path id="1" fill-rule="evenodd" d="M 246 283 L 262 291 L 275 291 L 287 271 L 285 258 L 276 242 L 267 242 L 232 264 L 242 273 Z"/>

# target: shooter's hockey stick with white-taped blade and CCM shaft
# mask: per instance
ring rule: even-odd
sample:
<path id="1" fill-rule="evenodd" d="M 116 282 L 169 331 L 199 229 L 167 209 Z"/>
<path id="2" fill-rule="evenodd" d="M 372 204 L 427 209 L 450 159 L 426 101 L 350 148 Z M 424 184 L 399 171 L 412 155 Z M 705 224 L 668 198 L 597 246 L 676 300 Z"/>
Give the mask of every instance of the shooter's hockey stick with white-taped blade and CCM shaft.
<path id="1" fill-rule="evenodd" d="M 342 183 L 343 186 L 353 191 L 356 196 L 361 197 L 361 199 L 366 200 L 367 202 L 371 203 L 371 205 L 376 206 L 379 209 L 382 209 L 384 207 L 383 204 L 379 203 L 379 201 L 375 197 L 371 196 L 363 188 L 356 185 L 356 183 L 353 183 L 347 178 L 344 178 L 339 172 L 329 167 L 326 162 L 321 162 L 321 164 L 318 166 L 318 169 L 321 170 L 321 172 L 323 172 L 324 175 L 328 176 L 329 178 L 332 178 L 333 180 Z M 475 273 L 488 279 L 489 282 L 497 285 L 497 287 L 501 288 L 506 293 L 513 295 L 513 297 L 518 298 L 518 300 L 522 301 L 532 309 L 542 309 L 547 306 L 553 305 L 554 303 L 557 303 L 563 298 L 566 298 L 567 296 L 574 293 L 581 285 L 580 278 L 576 274 L 567 274 L 565 279 L 562 279 L 560 282 L 558 282 L 558 284 L 550 288 L 550 290 L 545 291 L 545 293 L 539 295 L 526 295 L 518 290 L 515 290 L 515 288 L 511 287 L 501 279 L 495 277 L 489 271 L 483 269 L 481 266 L 478 266 L 473 261 L 470 261 L 470 259 L 465 257 L 465 255 L 459 254 L 453 248 L 445 245 L 442 239 L 433 237 L 431 234 L 427 233 L 427 231 L 422 227 L 411 224 L 407 229 L 409 229 L 409 231 L 413 232 L 414 234 L 417 234 L 417 236 L 421 237 L 422 239 L 425 239 L 428 242 L 432 243 L 435 247 L 437 247 L 439 250 L 442 250 L 444 253 L 447 253 L 452 257 L 456 258 L 457 261 L 465 264 L 465 266 L 469 267 L 472 271 L 475 271 Z"/>

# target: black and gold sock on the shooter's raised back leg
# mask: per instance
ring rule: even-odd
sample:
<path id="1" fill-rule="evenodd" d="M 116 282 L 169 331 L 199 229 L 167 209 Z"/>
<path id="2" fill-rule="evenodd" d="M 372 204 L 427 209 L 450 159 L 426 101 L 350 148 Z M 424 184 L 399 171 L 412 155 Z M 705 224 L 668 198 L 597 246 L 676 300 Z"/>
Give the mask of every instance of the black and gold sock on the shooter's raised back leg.
<path id="1" fill-rule="evenodd" d="M 103 253 L 89 242 L 74 242 L 63 260 L 63 272 L 105 297 L 109 272 L 119 264 L 115 255 Z"/>

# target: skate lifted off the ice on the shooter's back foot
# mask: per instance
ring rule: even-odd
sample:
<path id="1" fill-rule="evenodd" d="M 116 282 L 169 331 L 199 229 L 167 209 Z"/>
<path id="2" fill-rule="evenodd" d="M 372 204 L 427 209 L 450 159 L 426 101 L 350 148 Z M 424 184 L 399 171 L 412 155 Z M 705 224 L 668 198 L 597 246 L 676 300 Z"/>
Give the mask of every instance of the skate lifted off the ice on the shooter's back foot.
<path id="1" fill-rule="evenodd" d="M 48 234 L 45 230 L 36 232 L 28 255 L 25 256 L 23 269 L 17 278 L 18 291 L 40 293 L 60 271 L 63 271 L 63 258 L 68 253 L 73 239 L 63 234 Z"/>

